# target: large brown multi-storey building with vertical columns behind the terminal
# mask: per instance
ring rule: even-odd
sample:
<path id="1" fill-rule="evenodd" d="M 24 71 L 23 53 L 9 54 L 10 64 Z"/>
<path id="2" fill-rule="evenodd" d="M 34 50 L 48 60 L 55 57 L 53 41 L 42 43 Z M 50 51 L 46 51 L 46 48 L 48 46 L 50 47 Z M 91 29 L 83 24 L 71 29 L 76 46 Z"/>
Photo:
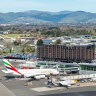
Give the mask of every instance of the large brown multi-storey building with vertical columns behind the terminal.
<path id="1" fill-rule="evenodd" d="M 38 46 L 37 57 L 41 60 L 61 62 L 91 62 L 95 59 L 95 45 L 48 45 Z"/>

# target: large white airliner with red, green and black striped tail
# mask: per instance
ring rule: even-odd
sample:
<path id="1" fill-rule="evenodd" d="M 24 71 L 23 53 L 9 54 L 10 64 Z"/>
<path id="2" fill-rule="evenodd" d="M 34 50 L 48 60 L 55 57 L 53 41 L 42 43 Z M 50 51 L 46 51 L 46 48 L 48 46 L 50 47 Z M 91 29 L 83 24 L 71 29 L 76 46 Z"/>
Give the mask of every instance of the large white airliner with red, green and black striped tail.
<path id="1" fill-rule="evenodd" d="M 7 70 L 2 70 L 4 73 L 12 73 L 17 76 L 34 77 L 35 79 L 45 78 L 45 76 L 59 72 L 56 69 L 16 69 L 6 59 L 2 61 Z"/>

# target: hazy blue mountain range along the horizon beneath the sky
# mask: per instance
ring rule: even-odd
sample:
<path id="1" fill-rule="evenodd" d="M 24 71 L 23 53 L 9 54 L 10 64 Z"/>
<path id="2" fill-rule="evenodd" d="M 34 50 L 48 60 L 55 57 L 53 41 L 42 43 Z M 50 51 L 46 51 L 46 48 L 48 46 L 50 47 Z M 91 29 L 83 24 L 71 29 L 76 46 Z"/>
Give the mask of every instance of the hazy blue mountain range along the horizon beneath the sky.
<path id="1" fill-rule="evenodd" d="M 85 11 L 46 12 L 30 10 L 25 12 L 0 13 L 0 24 L 83 24 L 96 23 L 96 13 Z"/>

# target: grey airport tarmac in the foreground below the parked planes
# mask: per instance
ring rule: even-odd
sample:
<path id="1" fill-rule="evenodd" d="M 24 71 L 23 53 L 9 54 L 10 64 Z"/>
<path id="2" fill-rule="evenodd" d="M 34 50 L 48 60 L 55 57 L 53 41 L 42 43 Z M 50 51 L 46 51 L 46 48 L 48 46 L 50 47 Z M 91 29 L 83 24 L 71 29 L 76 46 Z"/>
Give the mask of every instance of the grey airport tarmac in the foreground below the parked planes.
<path id="1" fill-rule="evenodd" d="M 0 62 L 0 96 L 96 96 L 94 83 L 91 86 L 78 88 L 50 88 L 46 85 L 46 79 L 19 79 L 11 74 L 3 73 L 2 69 L 5 68 L 2 62 Z"/>

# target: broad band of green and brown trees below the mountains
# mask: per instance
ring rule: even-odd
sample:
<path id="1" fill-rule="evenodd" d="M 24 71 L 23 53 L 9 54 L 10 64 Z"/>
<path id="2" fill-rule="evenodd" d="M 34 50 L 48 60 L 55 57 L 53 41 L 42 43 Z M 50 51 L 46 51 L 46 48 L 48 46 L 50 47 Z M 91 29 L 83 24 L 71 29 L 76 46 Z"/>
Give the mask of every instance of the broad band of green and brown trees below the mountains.
<path id="1" fill-rule="evenodd" d="M 96 26 L 32 26 L 32 25 L 14 25 L 0 26 L 0 32 L 8 31 L 9 34 L 26 34 L 30 36 L 72 36 L 72 35 L 96 35 Z"/>

